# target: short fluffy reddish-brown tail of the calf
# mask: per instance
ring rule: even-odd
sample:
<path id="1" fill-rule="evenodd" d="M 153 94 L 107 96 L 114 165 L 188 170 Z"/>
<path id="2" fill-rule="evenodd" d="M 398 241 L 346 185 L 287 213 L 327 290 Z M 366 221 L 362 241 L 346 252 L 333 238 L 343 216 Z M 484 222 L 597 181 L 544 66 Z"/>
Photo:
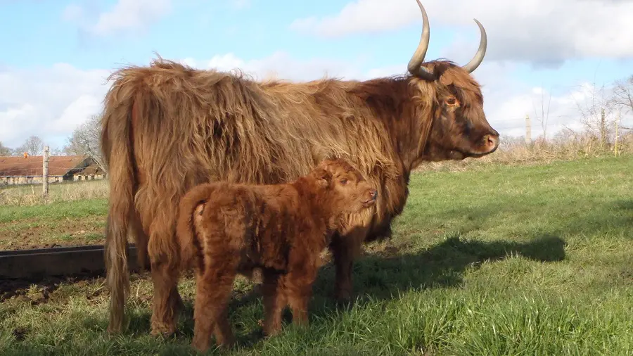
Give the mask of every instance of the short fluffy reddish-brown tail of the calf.
<path id="1" fill-rule="evenodd" d="M 180 268 L 183 271 L 203 266 L 202 241 L 194 219 L 196 214 L 203 214 L 205 203 L 216 189 L 217 185 L 213 183 L 200 184 L 189 190 L 180 201 L 176 235 L 180 246 Z"/>

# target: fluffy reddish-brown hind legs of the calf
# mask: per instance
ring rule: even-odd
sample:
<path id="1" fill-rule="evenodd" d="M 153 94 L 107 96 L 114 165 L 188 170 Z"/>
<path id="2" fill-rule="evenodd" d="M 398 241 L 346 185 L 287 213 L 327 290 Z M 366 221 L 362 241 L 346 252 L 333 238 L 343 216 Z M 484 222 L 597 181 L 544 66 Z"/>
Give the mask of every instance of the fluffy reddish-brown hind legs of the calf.
<path id="1" fill-rule="evenodd" d="M 196 305 L 193 307 L 193 341 L 200 352 L 209 348 L 211 333 L 218 345 L 229 347 L 235 342 L 229 324 L 229 299 L 235 279 L 230 263 L 210 263 L 204 272 L 196 274 Z"/>

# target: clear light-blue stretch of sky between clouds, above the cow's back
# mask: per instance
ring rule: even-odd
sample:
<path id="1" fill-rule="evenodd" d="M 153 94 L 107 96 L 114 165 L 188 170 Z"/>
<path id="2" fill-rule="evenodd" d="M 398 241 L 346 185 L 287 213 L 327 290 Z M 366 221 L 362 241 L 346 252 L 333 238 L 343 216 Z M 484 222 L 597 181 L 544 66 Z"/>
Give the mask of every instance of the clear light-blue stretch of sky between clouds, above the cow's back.
<path id="1" fill-rule="evenodd" d="M 98 8 L 107 11 L 117 1 L 99 1 Z M 5 29 L 0 40 L 11 49 L 4 64 L 21 67 L 70 63 L 76 68 L 111 68 L 115 63 L 147 63 L 153 51 L 165 58 L 211 58 L 216 54 L 234 53 L 239 58 L 256 59 L 274 51 L 286 51 L 297 59 L 316 57 L 356 61 L 367 56 L 363 65 L 406 63 L 420 36 L 421 23 L 400 30 L 355 34 L 338 39 L 321 39 L 289 30 L 296 18 L 324 16 L 340 11 L 345 1 L 184 1 L 172 4 L 169 15 L 151 23 L 143 33 L 91 37 L 75 22 L 65 21 L 68 1 L 41 1 L 34 11 L 34 1 L 16 1 L 4 5 L 0 23 Z M 86 10 L 95 20 L 98 11 Z M 90 13 L 92 12 L 92 13 Z M 27 25 L 28 24 L 28 25 Z M 433 30 L 436 30 L 435 28 Z M 471 27 L 473 37 L 478 34 Z M 20 32 L 20 36 L 15 36 Z M 451 30 L 433 32 L 429 56 L 437 56 L 441 43 L 449 42 Z"/>

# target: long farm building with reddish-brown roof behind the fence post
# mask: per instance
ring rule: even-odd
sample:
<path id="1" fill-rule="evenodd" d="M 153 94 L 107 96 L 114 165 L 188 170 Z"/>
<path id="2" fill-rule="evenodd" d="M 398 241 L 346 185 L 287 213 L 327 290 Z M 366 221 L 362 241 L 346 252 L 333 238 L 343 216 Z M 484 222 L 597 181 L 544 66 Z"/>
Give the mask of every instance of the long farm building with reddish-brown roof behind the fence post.
<path id="1" fill-rule="evenodd" d="M 42 161 L 41 155 L 0 156 L 0 185 L 41 184 Z M 49 183 L 103 177 L 103 172 L 88 156 L 49 156 Z"/>

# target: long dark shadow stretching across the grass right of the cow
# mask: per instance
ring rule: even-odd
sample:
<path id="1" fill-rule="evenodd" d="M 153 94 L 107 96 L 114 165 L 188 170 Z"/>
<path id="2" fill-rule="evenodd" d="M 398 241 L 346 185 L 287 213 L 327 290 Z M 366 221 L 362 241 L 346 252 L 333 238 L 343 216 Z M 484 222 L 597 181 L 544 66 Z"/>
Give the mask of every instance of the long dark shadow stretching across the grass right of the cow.
<path id="1" fill-rule="evenodd" d="M 463 240 L 450 236 L 426 250 L 400 253 L 390 248 L 360 258 L 354 265 L 354 291 L 365 298 L 397 298 L 399 292 L 425 288 L 459 286 L 468 268 L 478 268 L 482 262 L 503 260 L 520 255 L 539 262 L 561 261 L 565 258 L 565 241 L 558 236 L 544 235 L 520 243 L 516 241 Z M 324 267 L 315 284 L 321 293 L 331 293 L 334 268 Z M 361 298 L 361 299 L 365 299 Z"/>

